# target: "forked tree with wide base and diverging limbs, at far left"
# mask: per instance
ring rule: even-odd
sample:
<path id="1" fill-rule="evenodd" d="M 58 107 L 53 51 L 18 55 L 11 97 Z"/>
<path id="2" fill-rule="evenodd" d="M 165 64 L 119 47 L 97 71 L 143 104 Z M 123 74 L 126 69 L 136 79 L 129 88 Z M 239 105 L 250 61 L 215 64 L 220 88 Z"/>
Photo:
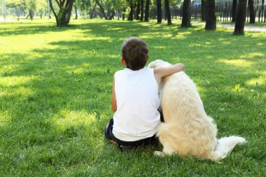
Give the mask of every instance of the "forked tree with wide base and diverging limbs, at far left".
<path id="1" fill-rule="evenodd" d="M 68 26 L 74 1 L 75 0 L 55 0 L 59 8 L 56 12 L 55 8 L 53 8 L 52 0 L 49 0 L 52 13 L 55 15 L 57 27 Z"/>

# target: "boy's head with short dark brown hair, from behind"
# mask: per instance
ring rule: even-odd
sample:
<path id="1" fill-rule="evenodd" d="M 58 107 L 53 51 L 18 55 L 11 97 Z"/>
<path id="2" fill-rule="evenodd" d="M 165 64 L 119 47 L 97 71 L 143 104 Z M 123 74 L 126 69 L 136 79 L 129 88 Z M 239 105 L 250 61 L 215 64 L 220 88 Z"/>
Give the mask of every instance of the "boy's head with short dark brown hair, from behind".
<path id="1" fill-rule="evenodd" d="M 148 45 L 137 37 L 127 38 L 121 47 L 122 57 L 127 68 L 139 70 L 148 60 Z"/>

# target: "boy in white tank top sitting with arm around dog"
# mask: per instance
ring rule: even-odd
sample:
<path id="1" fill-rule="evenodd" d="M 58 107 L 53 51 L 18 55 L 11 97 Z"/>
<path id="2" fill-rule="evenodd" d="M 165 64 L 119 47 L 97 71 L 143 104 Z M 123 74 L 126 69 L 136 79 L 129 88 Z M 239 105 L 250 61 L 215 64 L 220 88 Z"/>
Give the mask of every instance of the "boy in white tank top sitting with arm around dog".
<path id="1" fill-rule="evenodd" d="M 113 119 L 106 126 L 106 138 L 121 150 L 153 143 L 160 123 L 158 84 L 172 73 L 183 71 L 183 64 L 156 69 L 145 67 L 148 45 L 140 38 L 127 38 L 121 47 L 124 70 L 113 76 Z"/>

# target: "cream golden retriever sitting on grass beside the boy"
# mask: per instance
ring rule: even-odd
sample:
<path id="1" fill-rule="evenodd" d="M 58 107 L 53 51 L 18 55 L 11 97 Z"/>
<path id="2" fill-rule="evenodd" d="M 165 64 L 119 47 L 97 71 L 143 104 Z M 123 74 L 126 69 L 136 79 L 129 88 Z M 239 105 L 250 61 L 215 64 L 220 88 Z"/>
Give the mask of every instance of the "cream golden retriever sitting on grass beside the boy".
<path id="1" fill-rule="evenodd" d="M 167 66 L 160 59 L 149 68 Z M 245 142 L 239 136 L 216 139 L 217 127 L 205 111 L 197 87 L 185 72 L 174 73 L 160 81 L 160 101 L 165 122 L 158 127 L 158 138 L 163 150 L 155 155 L 192 155 L 204 160 L 218 161 L 237 144 Z"/>

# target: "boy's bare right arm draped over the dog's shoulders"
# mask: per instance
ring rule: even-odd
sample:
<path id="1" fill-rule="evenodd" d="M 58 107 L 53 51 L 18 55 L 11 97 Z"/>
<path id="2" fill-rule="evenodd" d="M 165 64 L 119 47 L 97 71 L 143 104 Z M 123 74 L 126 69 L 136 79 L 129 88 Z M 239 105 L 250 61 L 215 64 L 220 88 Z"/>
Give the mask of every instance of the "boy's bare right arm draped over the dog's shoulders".
<path id="1" fill-rule="evenodd" d="M 153 72 L 154 72 L 154 76 L 155 76 L 157 83 L 160 83 L 161 78 L 165 76 L 169 76 L 172 73 L 183 71 L 184 69 L 185 69 L 185 65 L 179 63 L 179 64 L 173 64 L 170 66 L 162 66 L 162 67 L 155 68 Z"/>

